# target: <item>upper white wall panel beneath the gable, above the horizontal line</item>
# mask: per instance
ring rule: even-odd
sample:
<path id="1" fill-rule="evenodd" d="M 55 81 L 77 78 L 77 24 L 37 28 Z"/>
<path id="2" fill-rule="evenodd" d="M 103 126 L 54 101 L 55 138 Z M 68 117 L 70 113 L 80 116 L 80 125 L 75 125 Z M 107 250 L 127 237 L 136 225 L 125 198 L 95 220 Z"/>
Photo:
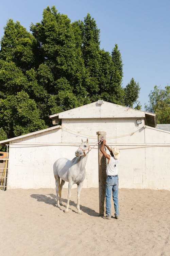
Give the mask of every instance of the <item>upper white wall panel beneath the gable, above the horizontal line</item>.
<path id="1" fill-rule="evenodd" d="M 137 118 L 94 118 L 94 119 L 62 119 L 62 142 L 80 142 L 80 137 L 89 138 L 91 143 L 97 142 L 97 131 L 105 131 L 108 143 L 144 143 L 144 119 L 136 124 Z M 75 136 L 75 132 L 76 134 Z M 134 134 L 132 134 L 134 132 Z M 80 135 L 79 135 L 80 134 Z M 114 138 L 115 137 L 115 138 Z M 118 137 L 118 138 L 116 138 Z"/>

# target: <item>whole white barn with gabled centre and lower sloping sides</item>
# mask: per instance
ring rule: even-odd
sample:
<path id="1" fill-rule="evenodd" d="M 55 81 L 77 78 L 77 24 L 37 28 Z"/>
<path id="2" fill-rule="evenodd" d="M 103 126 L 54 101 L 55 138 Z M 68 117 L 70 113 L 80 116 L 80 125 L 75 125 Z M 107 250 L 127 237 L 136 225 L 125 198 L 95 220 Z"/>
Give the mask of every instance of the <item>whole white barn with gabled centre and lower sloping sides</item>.
<path id="1" fill-rule="evenodd" d="M 55 126 L 0 141 L 9 149 L 7 189 L 54 188 L 55 160 L 72 159 L 82 139 L 92 147 L 105 131 L 106 143 L 121 151 L 120 188 L 170 190 L 170 132 L 155 128 L 155 114 L 100 100 L 50 118 Z M 83 187 L 98 187 L 98 146 L 89 152 Z"/>

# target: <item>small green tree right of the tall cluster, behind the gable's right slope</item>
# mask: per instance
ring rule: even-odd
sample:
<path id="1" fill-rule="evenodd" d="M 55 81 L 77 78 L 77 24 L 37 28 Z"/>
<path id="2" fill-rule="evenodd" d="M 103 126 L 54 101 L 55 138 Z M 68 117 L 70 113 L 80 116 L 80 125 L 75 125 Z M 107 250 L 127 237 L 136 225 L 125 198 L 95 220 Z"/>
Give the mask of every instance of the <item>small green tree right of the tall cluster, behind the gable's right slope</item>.
<path id="1" fill-rule="evenodd" d="M 127 106 L 129 108 L 133 108 L 133 104 L 137 103 L 137 106 L 135 107 L 135 109 L 141 108 L 140 102 L 137 102 L 137 99 L 139 97 L 139 91 L 140 91 L 139 83 L 137 83 L 134 80 L 134 78 L 132 77 L 129 84 L 127 84 L 126 87 L 124 88 L 124 92 L 125 92 L 124 104 L 125 104 L 125 106 Z"/>

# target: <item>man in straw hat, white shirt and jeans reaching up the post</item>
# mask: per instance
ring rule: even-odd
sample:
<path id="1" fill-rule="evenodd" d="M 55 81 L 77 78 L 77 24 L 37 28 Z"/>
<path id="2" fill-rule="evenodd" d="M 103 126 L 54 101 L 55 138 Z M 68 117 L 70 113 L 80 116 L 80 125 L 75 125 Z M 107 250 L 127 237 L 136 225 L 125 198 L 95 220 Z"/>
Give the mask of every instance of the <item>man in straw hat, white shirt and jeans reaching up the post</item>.
<path id="1" fill-rule="evenodd" d="M 104 149 L 104 146 L 107 147 L 111 155 L 108 155 Z M 113 195 L 113 201 L 115 206 L 115 218 L 119 218 L 119 203 L 118 203 L 118 187 L 119 187 L 119 178 L 118 178 L 118 163 L 120 157 L 120 151 L 117 147 L 110 148 L 106 144 L 106 140 L 102 141 L 100 148 L 102 154 L 107 158 L 107 167 L 106 167 L 106 216 L 104 219 L 111 219 L 111 194 Z"/>

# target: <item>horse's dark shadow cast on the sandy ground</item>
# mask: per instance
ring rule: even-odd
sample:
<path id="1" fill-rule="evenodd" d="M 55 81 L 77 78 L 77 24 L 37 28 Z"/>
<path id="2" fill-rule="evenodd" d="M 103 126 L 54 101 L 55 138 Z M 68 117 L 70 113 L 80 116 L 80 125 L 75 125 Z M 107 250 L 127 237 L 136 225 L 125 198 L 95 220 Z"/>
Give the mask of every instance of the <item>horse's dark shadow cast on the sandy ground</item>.
<path id="1" fill-rule="evenodd" d="M 39 195 L 39 194 L 32 194 L 30 195 L 32 198 L 35 198 L 37 199 L 38 202 L 44 202 L 44 203 L 47 203 L 47 204 L 51 204 L 52 206 L 56 207 L 56 196 L 54 194 L 48 194 L 50 197 L 47 197 L 46 195 Z M 65 198 L 62 198 L 62 202 L 64 203 L 67 203 L 67 199 Z M 74 202 L 74 201 L 71 201 L 69 202 L 69 205 L 70 206 L 74 206 L 76 208 L 77 204 Z M 66 205 L 64 205 L 64 207 L 66 207 Z M 59 208 L 60 210 L 62 210 L 64 212 L 63 209 Z M 86 207 L 86 206 L 83 206 L 80 204 L 80 209 L 82 210 L 82 212 L 84 213 L 87 213 L 88 215 L 90 216 L 99 216 L 99 213 L 96 212 L 95 210 L 89 208 L 89 207 Z M 76 212 L 72 209 L 69 209 L 73 212 Z"/>

